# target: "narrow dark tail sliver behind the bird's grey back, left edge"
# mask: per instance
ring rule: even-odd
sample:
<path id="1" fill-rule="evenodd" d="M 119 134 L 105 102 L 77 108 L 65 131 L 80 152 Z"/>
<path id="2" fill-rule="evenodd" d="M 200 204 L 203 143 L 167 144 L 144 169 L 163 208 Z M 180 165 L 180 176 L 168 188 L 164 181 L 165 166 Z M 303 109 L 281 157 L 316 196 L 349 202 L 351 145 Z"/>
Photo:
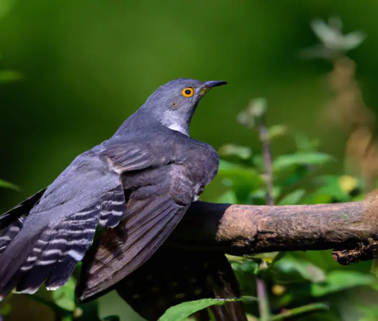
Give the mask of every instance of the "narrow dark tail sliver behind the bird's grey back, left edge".
<path id="1" fill-rule="evenodd" d="M 21 231 L 25 218 L 33 206 L 39 202 L 45 191 L 46 189 L 40 190 L 0 216 L 0 256 Z"/>

